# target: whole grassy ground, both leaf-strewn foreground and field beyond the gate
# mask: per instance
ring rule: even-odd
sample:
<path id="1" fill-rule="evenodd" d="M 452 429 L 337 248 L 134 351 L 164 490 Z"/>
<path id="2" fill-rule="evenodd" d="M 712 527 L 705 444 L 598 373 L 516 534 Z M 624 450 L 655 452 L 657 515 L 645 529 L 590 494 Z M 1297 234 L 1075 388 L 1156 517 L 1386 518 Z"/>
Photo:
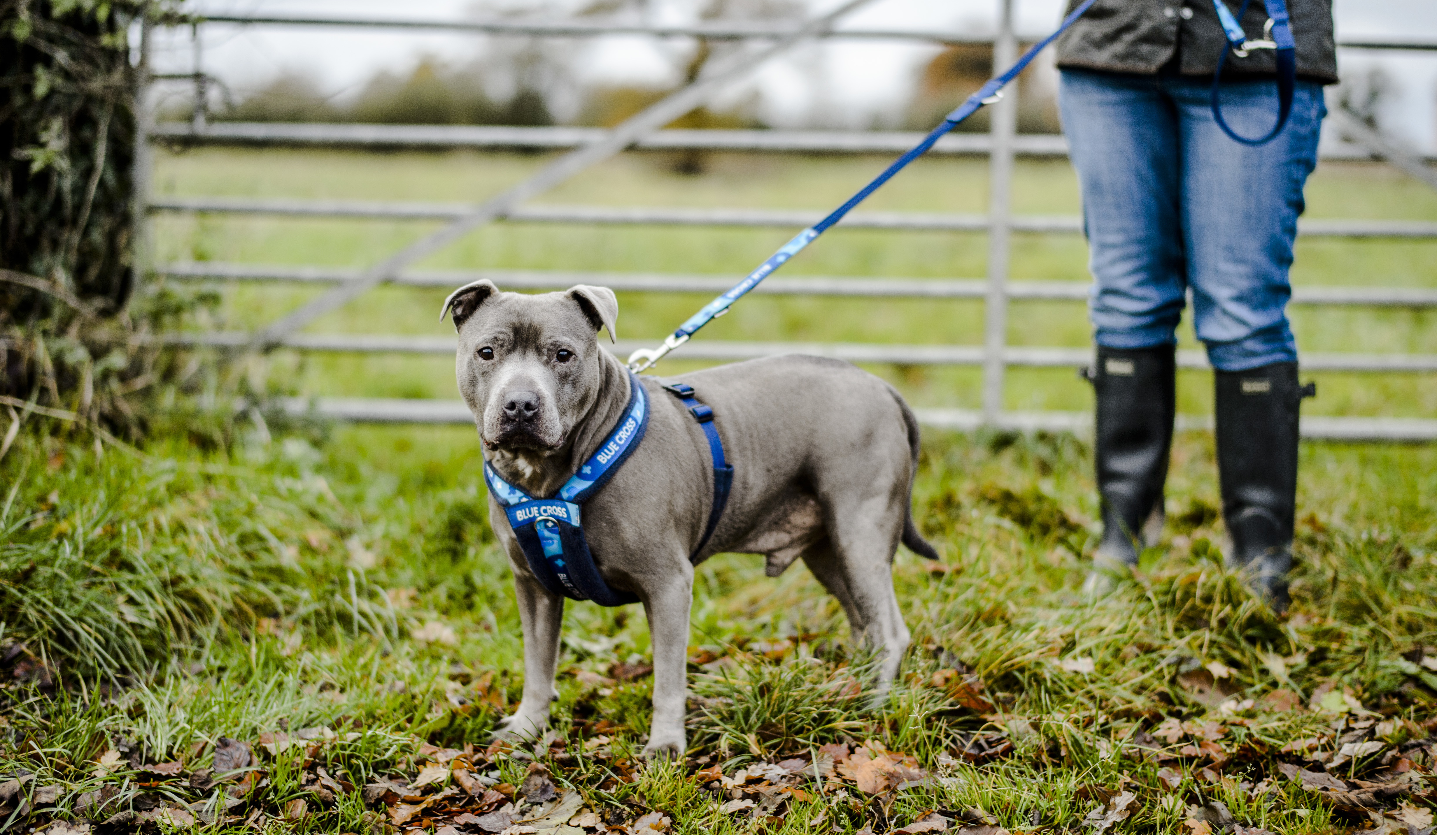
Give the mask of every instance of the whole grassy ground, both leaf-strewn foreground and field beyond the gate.
<path id="1" fill-rule="evenodd" d="M 542 157 L 203 151 L 168 194 L 471 200 Z M 822 208 L 877 160 L 631 157 L 546 200 Z M 983 168 L 931 160 L 874 208 L 980 211 Z M 1318 217 L 1437 218 L 1437 195 L 1325 167 Z M 1023 162 L 1020 213 L 1072 213 L 1066 165 Z M 165 260 L 369 263 L 427 224 L 164 217 Z M 497 226 L 435 267 L 740 275 L 780 230 Z M 981 236 L 832 233 L 795 275 L 981 276 Z M 1437 244 L 1300 241 L 1295 279 L 1433 286 Z M 1015 277 L 1082 282 L 1033 236 Z M 313 290 L 224 287 L 193 326 L 249 328 Z M 441 292 L 382 289 L 316 331 L 445 333 Z M 655 338 L 704 299 L 625 295 Z M 1298 309 L 1309 351 L 1437 351 L 1430 313 Z M 710 332 L 706 332 L 708 338 Z M 754 297 L 711 338 L 974 343 L 981 308 Z M 1078 305 L 1015 305 L 1015 343 L 1086 343 Z M 1186 336 L 1188 343 L 1190 333 Z M 675 364 L 673 368 L 684 368 Z M 970 369 L 874 371 L 920 405 L 977 402 Z M 448 359 L 276 355 L 280 391 L 453 398 Z M 1428 377 L 1319 375 L 1313 414 L 1431 415 Z M 1181 408 L 1210 402 L 1203 374 Z M 1013 372 L 1010 408 L 1088 408 L 1068 371 Z M 39 418 L 32 418 L 37 421 Z M 157 424 L 158 425 L 158 424 Z M 177 424 L 180 425 L 180 424 Z M 802 568 L 697 572 L 690 752 L 639 760 L 648 631 L 568 606 L 553 732 L 489 747 L 517 703 L 512 582 L 466 427 L 157 431 L 141 451 L 32 423 L 0 458 L 0 829 L 379 835 L 1428 834 L 1437 730 L 1437 447 L 1303 444 L 1292 611 L 1221 569 L 1211 437 L 1180 435 L 1170 525 L 1112 596 L 1073 437 L 925 438 L 915 516 L 943 553 L 894 576 L 914 645 L 884 706 L 838 604 Z M 549 799 L 552 798 L 552 799 Z M 537 801 L 537 805 L 527 803 Z M 937 816 L 934 816 L 937 815 Z M 89 829 L 86 829 L 89 826 Z"/>

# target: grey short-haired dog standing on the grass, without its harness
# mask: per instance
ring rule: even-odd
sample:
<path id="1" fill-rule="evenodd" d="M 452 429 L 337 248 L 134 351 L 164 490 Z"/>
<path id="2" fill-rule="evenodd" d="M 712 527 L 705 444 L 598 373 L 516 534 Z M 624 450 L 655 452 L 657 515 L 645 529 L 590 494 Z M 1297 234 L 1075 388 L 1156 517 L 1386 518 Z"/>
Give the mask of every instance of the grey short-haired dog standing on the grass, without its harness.
<path id="1" fill-rule="evenodd" d="M 444 302 L 458 329 L 456 374 L 484 457 L 530 496 L 552 496 L 615 427 L 629 374 L 598 342 L 615 335 L 618 300 L 606 287 L 503 293 L 466 285 Z M 648 431 L 583 507 L 599 573 L 644 604 L 654 650 L 654 721 L 645 756 L 683 756 L 685 663 L 694 565 L 713 500 L 703 428 L 657 378 Z M 720 552 L 762 553 L 777 576 L 802 559 L 838 598 L 854 638 L 878 657 L 887 694 L 908 647 L 892 588 L 902 542 L 937 559 L 910 510 L 918 424 L 887 382 L 833 359 L 775 356 L 685 374 L 734 467 L 733 492 L 697 562 Z M 549 720 L 563 598 L 529 569 L 504 510 L 489 519 L 514 572 L 525 638 L 525 691 L 500 737 L 533 737 Z"/>

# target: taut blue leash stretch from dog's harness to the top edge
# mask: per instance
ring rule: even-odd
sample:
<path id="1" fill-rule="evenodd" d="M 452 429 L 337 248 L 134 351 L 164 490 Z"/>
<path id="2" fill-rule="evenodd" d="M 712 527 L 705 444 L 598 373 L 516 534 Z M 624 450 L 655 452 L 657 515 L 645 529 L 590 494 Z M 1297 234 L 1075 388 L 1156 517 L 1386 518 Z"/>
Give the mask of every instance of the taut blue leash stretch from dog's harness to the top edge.
<path id="1" fill-rule="evenodd" d="M 737 285 L 734 285 L 734 287 L 731 290 L 729 290 L 727 293 L 718 296 L 713 302 L 708 302 L 707 305 L 704 305 L 704 308 L 701 310 L 698 310 L 697 313 L 694 313 L 693 316 L 690 316 L 687 322 L 684 322 L 683 325 L 680 325 L 678 331 L 674 331 L 673 333 L 670 333 L 668 338 L 664 339 L 662 345 L 660 345 L 654 351 L 650 351 L 647 348 L 641 348 L 641 349 L 635 351 L 634 354 L 631 354 L 629 355 L 629 361 L 628 361 L 629 368 L 632 371 L 644 371 L 645 368 L 650 368 L 655 362 L 658 362 L 664 355 L 667 355 L 674 348 L 678 348 L 684 342 L 688 342 L 688 339 L 700 328 L 703 328 L 708 322 L 713 322 L 718 316 L 723 316 L 724 313 L 727 313 L 729 308 L 734 302 L 737 302 L 740 297 L 743 297 L 746 293 L 749 293 L 749 290 L 757 287 L 759 282 L 762 282 L 763 279 L 769 277 L 769 275 L 773 273 L 773 270 L 776 270 L 780 266 L 783 266 L 785 262 L 787 262 L 793 256 L 796 256 L 800 252 L 803 252 L 803 247 L 806 247 L 808 244 L 813 243 L 813 240 L 818 236 L 821 236 L 825 231 L 828 231 L 829 227 L 832 227 L 833 224 L 836 224 L 839 220 L 844 220 L 845 214 L 848 214 L 849 211 L 852 211 L 852 208 L 855 206 L 858 206 L 869 194 L 872 194 L 874 191 L 877 191 L 879 185 L 882 185 L 884 183 L 888 183 L 890 180 L 892 180 L 894 174 L 898 174 L 910 162 L 912 162 L 918 157 L 923 157 L 928 151 L 928 148 L 933 148 L 934 142 L 937 142 L 940 138 L 943 138 L 944 134 L 947 134 L 948 131 L 951 131 L 953 128 L 956 128 L 958 125 L 958 122 L 961 122 L 963 119 L 967 119 L 973 114 L 979 112 L 979 108 L 981 108 L 983 105 L 992 105 L 992 103 L 997 102 L 1002 98 L 1002 89 L 1004 86 L 1007 86 L 1009 82 L 1012 82 L 1013 79 L 1016 79 L 1019 76 L 1019 73 L 1022 73 L 1027 68 L 1027 65 L 1032 63 L 1035 57 L 1038 57 L 1039 52 L 1042 52 L 1049 43 L 1053 42 L 1053 39 L 1056 39 L 1069 26 L 1072 26 L 1079 17 L 1082 17 L 1082 14 L 1085 11 L 1088 11 L 1088 9 L 1091 9 L 1092 4 L 1096 3 L 1096 1 L 1098 0 L 1083 0 L 1082 6 L 1073 9 L 1072 13 L 1068 14 L 1068 17 L 1063 19 L 1062 26 L 1059 26 L 1058 30 L 1055 30 L 1052 34 L 1049 34 L 1043 40 L 1040 40 L 1036 45 L 1033 45 L 1033 47 L 1029 49 L 1027 52 L 1025 52 L 1023 56 L 1019 57 L 1017 62 L 1007 69 L 1007 72 L 1004 72 L 1003 75 L 1000 75 L 1000 76 L 997 76 L 994 79 L 990 79 L 986 85 L 983 85 L 979 89 L 979 92 L 976 92 L 971 96 L 969 96 L 967 101 L 964 101 L 958 106 L 958 109 L 953 111 L 951 114 L 948 114 L 943 119 L 941 125 L 938 125 L 937 128 L 934 128 L 933 131 L 930 131 L 928 135 L 924 137 L 923 142 L 918 142 L 911 151 L 908 151 L 907 154 L 904 154 L 902 157 L 900 157 L 892 165 L 890 165 L 888 168 L 885 168 L 882 174 L 879 174 L 878 177 L 875 177 L 872 180 L 872 183 L 869 183 L 868 185 L 864 185 L 864 188 L 859 190 L 858 194 L 849 197 L 848 203 L 845 203 L 844 206 L 839 206 L 838 208 L 835 208 L 823 220 L 815 223 L 813 226 L 810 226 L 810 227 L 805 229 L 803 231 L 798 233 L 796 236 L 793 236 L 793 240 L 790 240 L 789 243 L 786 243 L 782 247 L 779 247 L 779 252 L 776 252 L 772 256 L 769 256 L 769 260 L 766 260 L 762 264 L 759 264 L 759 269 L 756 269 L 752 273 L 749 273 L 749 277 L 746 277 L 744 280 L 741 280 Z M 1221 0 L 1216 0 L 1216 1 L 1221 3 Z M 1269 0 L 1269 1 L 1280 1 L 1280 0 Z"/>

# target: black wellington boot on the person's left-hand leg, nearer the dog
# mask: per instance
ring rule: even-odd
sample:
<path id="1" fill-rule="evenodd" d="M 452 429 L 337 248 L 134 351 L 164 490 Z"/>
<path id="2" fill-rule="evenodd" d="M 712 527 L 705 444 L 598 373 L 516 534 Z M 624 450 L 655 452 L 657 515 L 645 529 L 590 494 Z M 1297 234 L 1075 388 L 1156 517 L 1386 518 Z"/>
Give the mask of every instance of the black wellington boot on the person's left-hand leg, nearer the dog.
<path id="1" fill-rule="evenodd" d="M 1096 460 L 1102 542 L 1094 553 L 1089 592 L 1111 588 L 1138 552 L 1163 532 L 1163 483 L 1173 446 L 1174 346 L 1098 348 L 1088 369 L 1098 394 Z"/>

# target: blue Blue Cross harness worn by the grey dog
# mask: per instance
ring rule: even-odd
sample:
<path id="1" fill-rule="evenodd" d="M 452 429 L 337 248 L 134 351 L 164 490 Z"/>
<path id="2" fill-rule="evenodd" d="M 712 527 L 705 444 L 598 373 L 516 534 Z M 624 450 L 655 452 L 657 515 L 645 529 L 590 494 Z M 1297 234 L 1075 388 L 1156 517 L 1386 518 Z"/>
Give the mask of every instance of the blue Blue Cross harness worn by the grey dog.
<path id="1" fill-rule="evenodd" d="M 690 556 L 694 559 L 708 543 L 708 538 L 718 526 L 723 509 L 729 503 L 733 467 L 724 461 L 723 441 L 713 424 L 713 410 L 698 402 L 694 398 L 694 389 L 683 382 L 664 388 L 678 395 L 688 412 L 704 428 L 714 463 L 714 502 L 708 512 L 708 526 L 704 529 L 704 536 Z M 553 499 L 529 496 L 500 477 L 489 466 L 489 461 L 484 461 L 484 483 L 489 484 L 489 492 L 494 499 L 503 504 L 509 527 L 519 539 L 519 548 L 525 552 L 529 571 L 550 594 L 575 601 L 593 601 L 601 606 L 638 602 L 632 594 L 611 588 L 599 575 L 599 569 L 593 563 L 593 553 L 589 550 L 589 542 L 583 536 L 581 506 L 614 477 L 619 466 L 644 440 L 644 433 L 648 430 L 648 394 L 638 377 L 631 372 L 629 402 L 624 410 L 624 417 L 619 418 L 609 437 L 599 444 L 599 450 L 559 487 L 559 493 Z"/>

